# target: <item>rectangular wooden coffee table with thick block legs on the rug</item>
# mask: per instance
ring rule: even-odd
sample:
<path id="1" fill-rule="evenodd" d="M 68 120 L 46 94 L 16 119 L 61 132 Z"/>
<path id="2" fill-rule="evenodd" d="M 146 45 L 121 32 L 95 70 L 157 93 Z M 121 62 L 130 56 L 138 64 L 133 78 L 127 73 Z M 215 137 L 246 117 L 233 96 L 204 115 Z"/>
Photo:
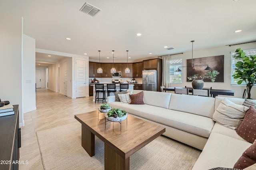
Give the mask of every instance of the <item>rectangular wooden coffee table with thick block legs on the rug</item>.
<path id="1" fill-rule="evenodd" d="M 82 124 L 82 146 L 90 156 L 95 154 L 95 135 L 105 144 L 105 170 L 128 170 L 130 156 L 165 132 L 165 128 L 128 115 L 127 123 L 106 122 L 98 111 L 75 115 Z"/>

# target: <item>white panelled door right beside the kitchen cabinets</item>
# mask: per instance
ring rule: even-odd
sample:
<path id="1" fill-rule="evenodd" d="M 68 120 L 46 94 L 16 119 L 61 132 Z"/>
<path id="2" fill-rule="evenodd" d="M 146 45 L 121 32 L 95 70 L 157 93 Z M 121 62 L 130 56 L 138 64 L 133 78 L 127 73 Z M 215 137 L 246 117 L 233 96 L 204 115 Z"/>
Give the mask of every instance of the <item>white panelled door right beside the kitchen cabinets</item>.
<path id="1" fill-rule="evenodd" d="M 76 98 L 86 96 L 86 62 L 76 60 Z"/>

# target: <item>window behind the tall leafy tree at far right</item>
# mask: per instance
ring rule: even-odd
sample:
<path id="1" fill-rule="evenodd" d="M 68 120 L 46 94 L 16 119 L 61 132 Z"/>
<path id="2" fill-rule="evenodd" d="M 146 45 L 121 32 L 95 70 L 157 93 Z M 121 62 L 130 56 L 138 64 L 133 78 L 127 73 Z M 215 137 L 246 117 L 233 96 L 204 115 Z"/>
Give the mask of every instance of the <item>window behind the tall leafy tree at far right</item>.
<path id="1" fill-rule="evenodd" d="M 246 56 L 250 56 L 250 55 L 256 55 L 256 49 L 246 49 L 243 50 L 246 53 Z M 235 51 L 231 52 L 231 85 L 238 85 L 237 82 L 240 79 L 234 79 L 234 77 L 232 76 L 235 73 L 235 68 L 236 68 L 236 63 L 238 61 L 241 61 L 240 59 L 235 59 L 232 56 L 237 55 Z M 242 82 L 241 85 L 246 85 L 245 81 Z"/>

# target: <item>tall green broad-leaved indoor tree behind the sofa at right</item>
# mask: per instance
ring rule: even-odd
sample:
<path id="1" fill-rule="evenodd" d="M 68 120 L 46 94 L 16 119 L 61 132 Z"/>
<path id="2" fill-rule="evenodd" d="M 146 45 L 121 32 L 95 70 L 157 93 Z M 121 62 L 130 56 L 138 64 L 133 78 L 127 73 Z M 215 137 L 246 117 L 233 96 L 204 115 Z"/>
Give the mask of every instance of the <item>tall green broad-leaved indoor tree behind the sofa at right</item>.
<path id="1" fill-rule="evenodd" d="M 232 57 L 240 59 L 240 61 L 236 63 L 237 68 L 235 68 L 232 77 L 240 79 L 237 82 L 238 85 L 245 81 L 248 93 L 247 98 L 250 99 L 252 86 L 256 84 L 256 55 L 248 57 L 241 48 L 236 49 L 236 53 L 237 55 Z"/>

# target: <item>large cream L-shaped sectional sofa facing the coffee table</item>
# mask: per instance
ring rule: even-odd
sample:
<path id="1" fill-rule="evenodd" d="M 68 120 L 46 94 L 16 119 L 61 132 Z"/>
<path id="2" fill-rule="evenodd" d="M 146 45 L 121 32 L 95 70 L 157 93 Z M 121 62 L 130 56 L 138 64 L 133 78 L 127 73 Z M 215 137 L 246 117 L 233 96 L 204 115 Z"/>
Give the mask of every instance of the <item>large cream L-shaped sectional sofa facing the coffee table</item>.
<path id="1" fill-rule="evenodd" d="M 130 90 L 128 90 L 129 92 Z M 136 94 L 141 90 L 133 90 Z M 251 143 L 235 130 L 213 121 L 214 111 L 224 97 L 201 97 L 155 91 L 143 91 L 144 105 L 130 105 L 108 97 L 108 104 L 124 109 L 129 115 L 154 122 L 166 128 L 163 134 L 202 150 L 193 170 L 215 167 L 232 168 Z M 226 97 L 242 105 L 244 99 Z"/>

